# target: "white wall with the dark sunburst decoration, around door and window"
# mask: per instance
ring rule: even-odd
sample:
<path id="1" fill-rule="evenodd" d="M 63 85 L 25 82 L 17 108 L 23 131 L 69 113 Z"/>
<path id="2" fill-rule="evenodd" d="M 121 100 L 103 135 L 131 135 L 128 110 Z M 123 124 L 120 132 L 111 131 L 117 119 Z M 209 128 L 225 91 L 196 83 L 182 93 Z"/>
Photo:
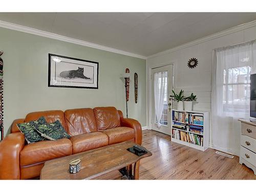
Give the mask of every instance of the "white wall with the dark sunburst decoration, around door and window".
<path id="1" fill-rule="evenodd" d="M 250 26 L 250 28 L 238 30 L 230 30 L 235 31 L 231 32 L 227 35 L 215 37 L 214 39 L 210 39 L 204 42 L 201 42 L 197 45 L 192 45 L 189 47 L 185 47 L 169 52 L 164 53 L 159 56 L 154 56 L 152 58 L 147 59 L 147 96 L 150 95 L 150 69 L 154 66 L 161 66 L 164 63 L 174 62 L 174 76 L 175 76 L 175 90 L 183 89 L 185 94 L 189 94 L 193 92 L 198 97 L 198 102 L 194 104 L 194 110 L 198 111 L 209 111 L 211 108 L 211 55 L 212 49 L 238 44 L 243 41 L 248 41 L 252 39 L 256 39 L 256 24 L 254 26 Z M 240 28 L 239 28 L 240 29 Z M 229 32 L 230 32 L 229 31 Z M 223 33 L 222 33 L 223 35 Z M 190 69 L 187 66 L 187 62 L 190 58 L 197 58 L 199 64 L 196 68 Z M 150 111 L 151 103 L 150 97 L 147 97 L 147 109 Z M 151 127 L 151 112 L 147 114 L 147 125 L 150 129 Z M 240 132 L 240 130 L 232 130 L 233 132 Z M 212 144 L 212 130 L 210 129 L 210 146 Z M 238 141 L 240 138 L 236 138 L 239 134 L 234 133 L 234 138 Z M 238 145 L 239 147 L 239 145 Z M 225 149 L 222 151 L 226 151 L 227 153 L 239 154 L 239 148 L 236 149 Z"/>

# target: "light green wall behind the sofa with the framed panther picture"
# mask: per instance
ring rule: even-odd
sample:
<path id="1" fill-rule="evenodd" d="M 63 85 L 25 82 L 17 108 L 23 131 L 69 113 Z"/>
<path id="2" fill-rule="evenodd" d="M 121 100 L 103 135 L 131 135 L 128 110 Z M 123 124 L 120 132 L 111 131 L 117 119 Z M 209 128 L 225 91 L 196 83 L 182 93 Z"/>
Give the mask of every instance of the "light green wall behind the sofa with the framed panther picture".
<path id="1" fill-rule="evenodd" d="M 79 46 L 28 33 L 0 28 L 4 51 L 4 127 L 35 111 L 115 106 L 125 115 L 124 81 L 130 69 L 129 117 L 146 126 L 146 61 L 108 51 Z M 48 53 L 99 62 L 99 89 L 48 87 Z M 134 99 L 134 73 L 138 73 L 138 103 Z"/>

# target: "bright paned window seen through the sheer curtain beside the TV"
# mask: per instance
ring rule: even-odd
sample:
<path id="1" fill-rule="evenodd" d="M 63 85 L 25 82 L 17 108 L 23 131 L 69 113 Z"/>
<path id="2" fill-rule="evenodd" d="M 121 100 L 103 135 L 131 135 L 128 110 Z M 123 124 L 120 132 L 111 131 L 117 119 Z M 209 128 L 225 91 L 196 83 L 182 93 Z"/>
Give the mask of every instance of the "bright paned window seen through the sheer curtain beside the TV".
<path id="1" fill-rule="evenodd" d="M 249 112 L 250 67 L 230 68 L 223 72 L 223 111 Z"/>

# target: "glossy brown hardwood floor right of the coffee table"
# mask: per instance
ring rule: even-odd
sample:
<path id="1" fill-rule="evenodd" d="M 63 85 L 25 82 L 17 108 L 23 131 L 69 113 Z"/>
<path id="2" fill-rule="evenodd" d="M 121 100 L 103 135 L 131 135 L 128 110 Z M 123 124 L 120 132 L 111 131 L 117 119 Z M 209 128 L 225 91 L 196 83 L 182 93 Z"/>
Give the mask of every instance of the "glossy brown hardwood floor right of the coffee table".
<path id="1" fill-rule="evenodd" d="M 153 155 L 140 161 L 139 179 L 256 179 L 253 171 L 233 159 L 170 141 L 170 136 L 143 131 L 142 145 Z"/>

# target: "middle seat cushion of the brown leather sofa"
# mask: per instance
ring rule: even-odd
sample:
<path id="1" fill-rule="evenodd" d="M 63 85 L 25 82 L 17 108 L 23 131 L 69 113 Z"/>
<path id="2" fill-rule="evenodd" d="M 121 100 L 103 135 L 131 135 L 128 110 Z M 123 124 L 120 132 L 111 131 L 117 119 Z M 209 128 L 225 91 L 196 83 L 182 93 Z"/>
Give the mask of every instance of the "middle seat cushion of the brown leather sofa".
<path id="1" fill-rule="evenodd" d="M 108 145 L 108 136 L 100 132 L 77 135 L 70 138 L 73 145 L 73 154 L 93 150 Z"/>

